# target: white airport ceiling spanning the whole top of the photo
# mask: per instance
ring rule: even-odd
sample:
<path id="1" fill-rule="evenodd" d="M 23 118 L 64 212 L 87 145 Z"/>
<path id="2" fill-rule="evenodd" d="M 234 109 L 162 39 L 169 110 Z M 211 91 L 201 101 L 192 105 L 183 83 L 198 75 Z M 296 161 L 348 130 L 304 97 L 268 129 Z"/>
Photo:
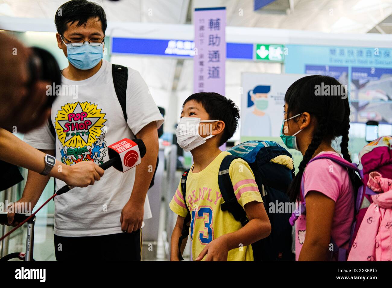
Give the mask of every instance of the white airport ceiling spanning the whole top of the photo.
<path id="1" fill-rule="evenodd" d="M 288 2 L 289 0 L 287 0 Z M 0 0 L 0 16 L 54 18 L 65 0 Z M 185 23 L 189 3 L 195 7 L 225 6 L 227 25 L 367 33 L 392 14 L 392 0 L 294 0 L 289 14 L 253 11 L 253 0 L 93 0 L 108 21 Z M 281 0 L 283 2 L 283 0 Z"/>

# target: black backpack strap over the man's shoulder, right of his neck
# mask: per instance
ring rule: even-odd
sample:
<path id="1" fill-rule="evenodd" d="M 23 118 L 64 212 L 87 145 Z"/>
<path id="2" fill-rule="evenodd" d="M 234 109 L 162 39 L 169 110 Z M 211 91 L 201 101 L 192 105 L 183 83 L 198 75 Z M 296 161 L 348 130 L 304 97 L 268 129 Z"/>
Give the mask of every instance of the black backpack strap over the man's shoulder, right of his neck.
<path id="1" fill-rule="evenodd" d="M 112 76 L 114 90 L 116 91 L 118 101 L 120 102 L 125 121 L 127 121 L 128 68 L 122 65 L 112 64 Z"/>

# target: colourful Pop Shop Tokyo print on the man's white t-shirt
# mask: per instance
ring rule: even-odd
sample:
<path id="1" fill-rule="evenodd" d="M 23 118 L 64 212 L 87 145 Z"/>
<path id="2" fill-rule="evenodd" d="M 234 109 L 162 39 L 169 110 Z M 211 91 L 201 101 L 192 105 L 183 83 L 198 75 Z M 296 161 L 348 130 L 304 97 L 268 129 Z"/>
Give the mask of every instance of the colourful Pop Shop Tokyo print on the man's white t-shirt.
<path id="1" fill-rule="evenodd" d="M 105 141 L 105 113 L 90 102 L 68 103 L 55 118 L 55 130 L 60 142 L 61 161 L 73 165 L 80 161 L 94 161 L 98 165 L 107 155 Z"/>

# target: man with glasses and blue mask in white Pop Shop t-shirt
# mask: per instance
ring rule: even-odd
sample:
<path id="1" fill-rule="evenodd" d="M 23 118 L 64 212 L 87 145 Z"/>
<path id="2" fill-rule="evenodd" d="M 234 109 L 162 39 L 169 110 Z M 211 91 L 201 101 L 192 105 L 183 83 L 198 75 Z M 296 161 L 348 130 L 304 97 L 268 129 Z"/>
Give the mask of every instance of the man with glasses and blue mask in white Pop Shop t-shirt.
<path id="1" fill-rule="evenodd" d="M 102 164 L 109 160 L 107 146 L 123 138 L 141 138 L 147 152 L 136 168 L 125 173 L 109 168 L 94 186 L 73 188 L 54 198 L 56 259 L 140 261 L 143 219 L 152 217 L 147 190 L 163 117 L 139 72 L 128 68 L 125 120 L 112 65 L 102 60 L 107 26 L 102 7 L 78 0 L 58 11 L 62 12 L 54 20 L 58 47 L 69 61 L 62 70 L 62 87 L 68 89 L 62 89 L 52 105 L 55 137 L 48 123 L 26 134 L 24 141 L 67 165 L 88 160 Z M 48 180 L 49 176 L 29 170 L 21 201 L 34 206 Z M 56 189 L 63 185 L 56 181 Z"/>

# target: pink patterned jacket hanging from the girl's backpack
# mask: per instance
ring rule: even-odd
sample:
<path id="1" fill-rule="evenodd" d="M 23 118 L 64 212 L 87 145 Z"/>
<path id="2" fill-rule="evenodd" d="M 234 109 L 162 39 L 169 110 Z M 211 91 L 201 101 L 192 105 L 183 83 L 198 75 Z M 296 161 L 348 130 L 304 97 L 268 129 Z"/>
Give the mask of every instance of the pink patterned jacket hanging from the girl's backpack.
<path id="1" fill-rule="evenodd" d="M 368 207 L 352 244 L 348 261 L 391 261 L 392 259 L 392 180 L 371 172 L 367 186 L 376 195 Z"/>

